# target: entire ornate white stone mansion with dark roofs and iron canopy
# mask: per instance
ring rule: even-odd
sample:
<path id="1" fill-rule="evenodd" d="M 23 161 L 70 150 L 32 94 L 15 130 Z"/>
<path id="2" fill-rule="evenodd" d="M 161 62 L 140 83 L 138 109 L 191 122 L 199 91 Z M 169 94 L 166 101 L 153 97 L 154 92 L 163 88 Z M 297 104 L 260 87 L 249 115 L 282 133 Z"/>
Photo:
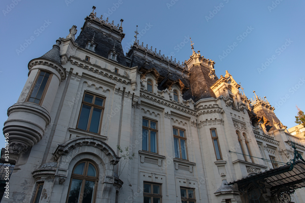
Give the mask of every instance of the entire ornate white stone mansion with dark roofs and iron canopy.
<path id="1" fill-rule="evenodd" d="M 123 20 L 94 9 L 28 64 L 3 128 L 15 166 L 2 202 L 305 201 L 304 139 L 266 98 L 193 44 L 182 64 L 137 38 L 124 55 Z"/>

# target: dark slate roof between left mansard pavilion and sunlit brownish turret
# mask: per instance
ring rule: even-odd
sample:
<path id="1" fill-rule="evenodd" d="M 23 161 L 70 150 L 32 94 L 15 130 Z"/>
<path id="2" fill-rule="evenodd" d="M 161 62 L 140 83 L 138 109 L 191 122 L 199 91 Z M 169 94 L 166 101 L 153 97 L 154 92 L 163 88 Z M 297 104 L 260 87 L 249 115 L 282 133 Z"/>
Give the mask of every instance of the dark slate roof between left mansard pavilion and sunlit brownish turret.
<path id="1" fill-rule="evenodd" d="M 140 70 L 144 66 L 144 63 L 145 63 L 145 58 L 140 57 L 138 55 L 133 55 L 131 60 L 131 67 L 138 66 L 138 69 Z M 193 99 L 192 90 L 190 88 L 191 85 L 187 73 L 185 73 L 184 77 L 176 72 L 170 72 L 170 74 L 168 74 L 167 68 L 164 68 L 163 66 L 160 66 L 156 63 L 152 63 L 152 61 L 149 61 L 149 63 L 145 65 L 145 69 L 149 70 L 151 68 L 155 68 L 158 71 L 158 73 L 164 77 L 164 79 L 158 84 L 158 90 L 162 91 L 165 89 L 165 87 L 163 87 L 163 83 L 166 82 L 167 79 L 170 79 L 172 81 L 180 79 L 181 82 L 183 82 L 183 84 L 185 85 L 185 87 L 189 88 L 187 91 L 185 91 L 185 93 L 183 93 L 182 98 L 184 100 L 188 100 L 190 98 Z"/>

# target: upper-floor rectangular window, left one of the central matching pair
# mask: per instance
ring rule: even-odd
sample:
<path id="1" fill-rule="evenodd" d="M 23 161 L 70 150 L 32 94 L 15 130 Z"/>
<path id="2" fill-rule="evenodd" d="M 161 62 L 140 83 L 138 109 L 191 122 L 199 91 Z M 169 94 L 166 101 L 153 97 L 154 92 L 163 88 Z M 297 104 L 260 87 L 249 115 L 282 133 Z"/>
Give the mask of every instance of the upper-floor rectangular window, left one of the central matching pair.
<path id="1" fill-rule="evenodd" d="M 158 153 L 157 121 L 142 119 L 142 150 Z"/>

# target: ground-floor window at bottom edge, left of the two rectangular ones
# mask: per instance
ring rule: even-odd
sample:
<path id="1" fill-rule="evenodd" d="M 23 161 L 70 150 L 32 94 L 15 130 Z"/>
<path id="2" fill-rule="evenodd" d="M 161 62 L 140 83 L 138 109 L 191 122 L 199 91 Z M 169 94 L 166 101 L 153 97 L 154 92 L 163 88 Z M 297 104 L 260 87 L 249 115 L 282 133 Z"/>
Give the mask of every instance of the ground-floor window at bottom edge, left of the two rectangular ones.
<path id="1" fill-rule="evenodd" d="M 161 185 L 149 182 L 143 184 L 144 203 L 161 203 Z"/>

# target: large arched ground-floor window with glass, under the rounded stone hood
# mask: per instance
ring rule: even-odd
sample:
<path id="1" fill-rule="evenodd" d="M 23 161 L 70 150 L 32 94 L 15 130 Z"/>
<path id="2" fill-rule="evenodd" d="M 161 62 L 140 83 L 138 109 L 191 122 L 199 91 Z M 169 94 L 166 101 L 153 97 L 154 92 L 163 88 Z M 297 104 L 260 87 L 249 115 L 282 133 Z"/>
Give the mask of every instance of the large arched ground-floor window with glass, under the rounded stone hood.
<path id="1" fill-rule="evenodd" d="M 98 180 L 98 171 L 91 161 L 84 160 L 75 165 L 71 175 L 67 203 L 94 203 Z"/>

